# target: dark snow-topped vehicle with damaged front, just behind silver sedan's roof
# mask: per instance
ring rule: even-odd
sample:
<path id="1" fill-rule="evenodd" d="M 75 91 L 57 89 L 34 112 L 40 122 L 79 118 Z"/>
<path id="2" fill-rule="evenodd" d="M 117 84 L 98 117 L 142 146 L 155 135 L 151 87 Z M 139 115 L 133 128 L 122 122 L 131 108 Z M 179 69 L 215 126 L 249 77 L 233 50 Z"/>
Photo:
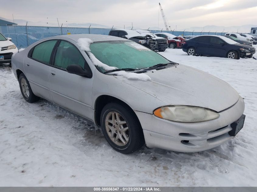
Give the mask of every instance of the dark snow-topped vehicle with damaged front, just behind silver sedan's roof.
<path id="1" fill-rule="evenodd" d="M 109 31 L 109 35 L 129 39 L 131 41 L 144 45 L 145 47 L 148 47 L 151 50 L 156 50 L 158 48 L 158 44 L 152 36 L 142 35 L 135 30 L 113 29 Z"/>

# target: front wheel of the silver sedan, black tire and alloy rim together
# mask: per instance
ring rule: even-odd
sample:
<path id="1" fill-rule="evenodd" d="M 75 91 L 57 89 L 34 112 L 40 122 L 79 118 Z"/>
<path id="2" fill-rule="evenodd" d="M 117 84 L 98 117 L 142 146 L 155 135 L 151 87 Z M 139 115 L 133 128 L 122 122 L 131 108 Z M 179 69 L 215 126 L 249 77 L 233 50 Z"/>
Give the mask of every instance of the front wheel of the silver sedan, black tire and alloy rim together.
<path id="1" fill-rule="evenodd" d="M 108 103 L 103 107 L 101 129 L 109 145 L 120 153 L 133 153 L 144 145 L 144 134 L 137 116 L 121 103 Z"/>

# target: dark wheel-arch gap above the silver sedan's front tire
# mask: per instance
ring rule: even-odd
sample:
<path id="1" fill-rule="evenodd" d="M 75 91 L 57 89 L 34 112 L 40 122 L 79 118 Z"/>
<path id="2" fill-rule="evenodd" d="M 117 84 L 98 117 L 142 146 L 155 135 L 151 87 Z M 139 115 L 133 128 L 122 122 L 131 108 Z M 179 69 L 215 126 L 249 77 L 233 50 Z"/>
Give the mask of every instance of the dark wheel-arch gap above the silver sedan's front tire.
<path id="1" fill-rule="evenodd" d="M 131 111 L 133 111 L 133 113 L 135 114 L 135 117 L 137 118 L 138 122 L 140 123 L 136 113 L 134 112 L 134 110 L 124 101 L 122 101 L 121 99 L 118 99 L 114 96 L 110 96 L 110 95 L 101 95 L 98 96 L 95 104 L 94 104 L 94 109 L 95 109 L 95 113 L 94 113 L 94 120 L 96 125 L 101 125 L 101 112 L 103 107 L 108 104 L 108 103 L 112 103 L 112 102 L 116 102 L 116 103 L 121 103 L 124 106 L 128 107 Z M 140 123 L 141 125 L 141 123 Z"/>

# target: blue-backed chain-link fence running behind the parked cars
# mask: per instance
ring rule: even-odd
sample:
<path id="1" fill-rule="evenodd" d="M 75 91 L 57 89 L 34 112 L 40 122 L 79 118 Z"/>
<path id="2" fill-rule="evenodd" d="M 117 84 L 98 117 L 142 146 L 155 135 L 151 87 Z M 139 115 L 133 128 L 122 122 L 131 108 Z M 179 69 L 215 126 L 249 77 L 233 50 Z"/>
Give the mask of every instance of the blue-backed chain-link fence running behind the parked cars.
<path id="1" fill-rule="evenodd" d="M 12 38 L 12 42 L 18 49 L 26 48 L 32 43 L 47 37 L 66 34 L 102 34 L 108 35 L 111 29 L 103 28 L 82 28 L 82 27 L 40 27 L 40 26 L 21 26 L 21 25 L 0 25 L 0 32 L 5 37 Z M 194 35 L 223 35 L 221 32 L 187 32 L 187 31 L 159 31 L 149 30 L 153 33 L 165 32 L 179 36 Z"/>

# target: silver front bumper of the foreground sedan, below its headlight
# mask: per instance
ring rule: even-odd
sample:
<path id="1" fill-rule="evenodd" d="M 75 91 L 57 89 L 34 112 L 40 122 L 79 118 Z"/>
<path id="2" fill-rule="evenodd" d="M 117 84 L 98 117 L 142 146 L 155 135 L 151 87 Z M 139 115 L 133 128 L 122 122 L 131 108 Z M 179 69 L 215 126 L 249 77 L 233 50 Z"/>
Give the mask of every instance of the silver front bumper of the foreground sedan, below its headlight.
<path id="1" fill-rule="evenodd" d="M 225 143 L 233 136 L 230 124 L 243 114 L 245 103 L 240 97 L 237 103 L 219 112 L 219 118 L 199 123 L 179 123 L 164 120 L 153 114 L 135 111 L 144 132 L 147 147 L 179 152 L 198 152 Z"/>

